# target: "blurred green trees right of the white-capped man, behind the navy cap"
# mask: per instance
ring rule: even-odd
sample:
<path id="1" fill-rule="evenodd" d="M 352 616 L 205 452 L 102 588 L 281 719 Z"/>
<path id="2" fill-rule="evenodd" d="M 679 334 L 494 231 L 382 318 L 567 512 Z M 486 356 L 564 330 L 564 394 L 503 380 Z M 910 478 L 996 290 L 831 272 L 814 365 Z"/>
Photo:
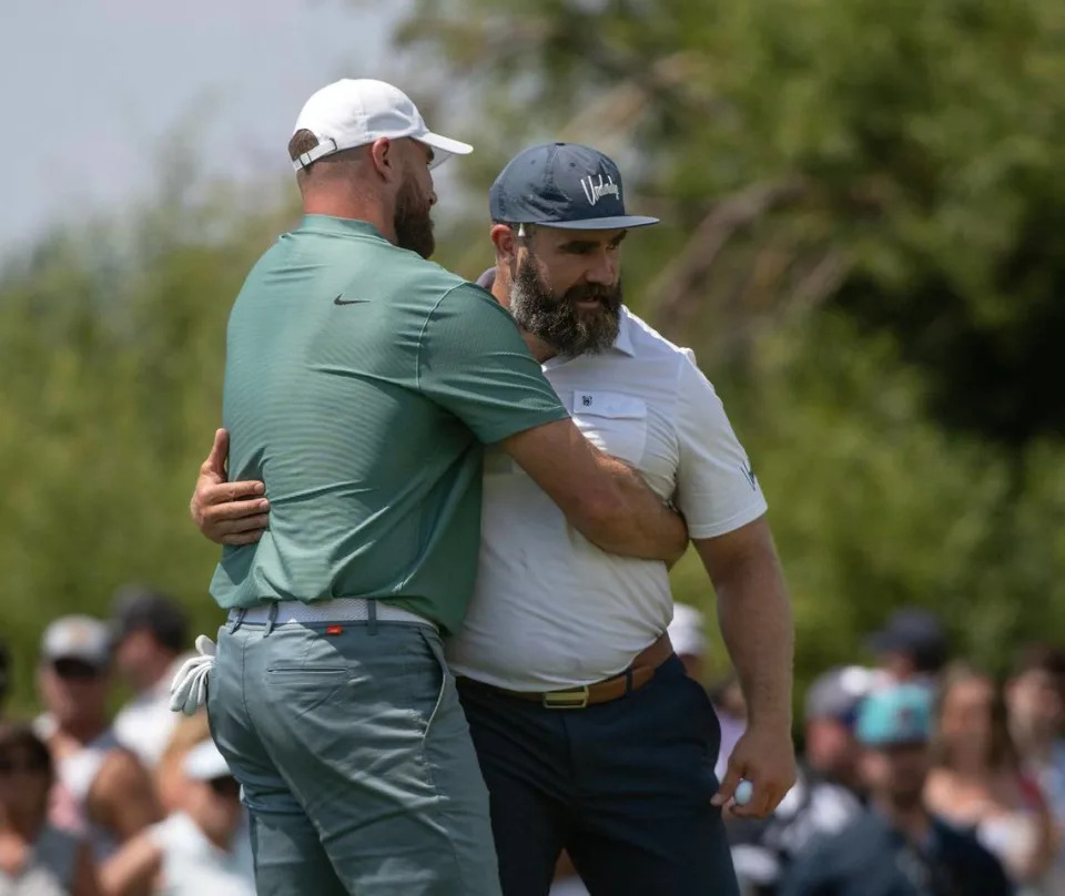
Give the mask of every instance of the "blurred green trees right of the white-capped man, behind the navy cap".
<path id="1" fill-rule="evenodd" d="M 477 110 L 471 196 L 579 140 L 663 218 L 626 243 L 628 301 L 752 454 L 801 679 L 901 603 L 995 668 L 1059 637 L 1059 3 L 423 0 L 402 37 Z M 693 556 L 673 579 L 707 604 Z"/>

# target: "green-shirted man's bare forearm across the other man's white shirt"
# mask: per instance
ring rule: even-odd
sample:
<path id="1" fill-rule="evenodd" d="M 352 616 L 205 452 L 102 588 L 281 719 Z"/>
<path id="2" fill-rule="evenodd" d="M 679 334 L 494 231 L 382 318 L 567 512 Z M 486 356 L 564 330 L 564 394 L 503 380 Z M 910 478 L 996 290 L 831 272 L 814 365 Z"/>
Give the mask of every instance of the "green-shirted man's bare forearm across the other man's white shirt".
<path id="1" fill-rule="evenodd" d="M 688 547 L 680 515 L 636 470 L 598 450 L 572 420 L 527 429 L 500 447 L 602 550 L 673 563 Z"/>

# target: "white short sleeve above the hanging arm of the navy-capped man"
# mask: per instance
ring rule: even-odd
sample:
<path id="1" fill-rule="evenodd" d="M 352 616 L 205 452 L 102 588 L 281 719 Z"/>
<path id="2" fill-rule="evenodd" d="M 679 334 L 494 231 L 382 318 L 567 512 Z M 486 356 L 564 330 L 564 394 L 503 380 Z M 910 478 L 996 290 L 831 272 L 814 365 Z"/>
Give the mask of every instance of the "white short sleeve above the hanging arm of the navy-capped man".
<path id="1" fill-rule="evenodd" d="M 694 355 L 686 355 L 677 381 L 680 462 L 673 500 L 692 538 L 713 538 L 762 516 L 765 498 L 721 399 Z"/>

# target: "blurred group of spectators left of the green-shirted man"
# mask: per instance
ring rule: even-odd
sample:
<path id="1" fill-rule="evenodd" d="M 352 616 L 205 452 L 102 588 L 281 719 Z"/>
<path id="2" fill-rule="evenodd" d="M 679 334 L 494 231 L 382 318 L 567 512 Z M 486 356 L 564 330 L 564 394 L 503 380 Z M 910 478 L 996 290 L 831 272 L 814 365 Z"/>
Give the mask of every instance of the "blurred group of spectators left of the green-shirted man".
<path id="1" fill-rule="evenodd" d="M 240 787 L 205 714 L 170 710 L 189 643 L 180 605 L 146 589 L 119 593 L 110 620 L 58 619 L 26 721 L 2 709 L 0 644 L 0 894 L 255 893 Z"/>

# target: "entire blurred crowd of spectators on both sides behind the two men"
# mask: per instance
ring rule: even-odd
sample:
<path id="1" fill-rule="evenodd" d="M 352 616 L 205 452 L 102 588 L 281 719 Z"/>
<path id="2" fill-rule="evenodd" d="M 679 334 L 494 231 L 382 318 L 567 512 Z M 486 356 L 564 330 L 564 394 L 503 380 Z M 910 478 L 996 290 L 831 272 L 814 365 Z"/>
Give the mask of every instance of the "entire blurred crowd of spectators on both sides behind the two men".
<path id="1" fill-rule="evenodd" d="M 702 614 L 678 604 L 670 635 L 703 681 Z M 0 709 L 0 894 L 254 893 L 240 788 L 203 714 L 170 711 L 189 644 L 180 607 L 146 589 L 110 620 L 45 629 L 39 714 Z M 916 609 L 869 646 L 874 664 L 803 694 L 800 776 L 777 812 L 727 819 L 743 896 L 894 893 L 880 884 L 900 875 L 936 896 L 1065 894 L 1065 652 L 1028 645 L 998 681 Z M 0 643 L 0 707 L 9 675 Z M 112 713 L 115 686 L 130 696 Z M 710 695 L 722 776 L 746 711 L 734 680 Z M 564 856 L 554 896 L 585 892 Z"/>

